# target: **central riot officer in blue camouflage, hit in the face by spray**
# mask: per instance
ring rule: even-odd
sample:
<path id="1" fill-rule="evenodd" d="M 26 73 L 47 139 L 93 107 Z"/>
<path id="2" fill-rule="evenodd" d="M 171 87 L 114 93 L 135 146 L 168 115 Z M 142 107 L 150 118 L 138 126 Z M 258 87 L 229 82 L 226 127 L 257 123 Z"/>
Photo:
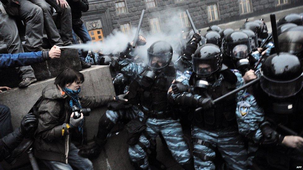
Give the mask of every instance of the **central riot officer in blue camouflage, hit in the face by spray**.
<path id="1" fill-rule="evenodd" d="M 127 47 L 129 48 L 131 46 Z M 147 67 L 133 63 L 123 56 L 119 61 L 121 72 L 138 83 L 135 92 L 140 96 L 138 115 L 143 124 L 139 127 L 146 127 L 136 140 L 130 138 L 128 141 L 130 160 L 135 168 L 147 169 L 149 146 L 160 132 L 174 159 L 184 169 L 191 169 L 190 154 L 183 139 L 181 125 L 167 100 L 167 91 L 176 74 L 171 65 L 173 49 L 166 41 L 156 41 L 148 48 L 147 54 Z M 128 127 L 131 129 L 138 125 L 138 121 L 132 121 L 135 122 L 137 123 Z"/>

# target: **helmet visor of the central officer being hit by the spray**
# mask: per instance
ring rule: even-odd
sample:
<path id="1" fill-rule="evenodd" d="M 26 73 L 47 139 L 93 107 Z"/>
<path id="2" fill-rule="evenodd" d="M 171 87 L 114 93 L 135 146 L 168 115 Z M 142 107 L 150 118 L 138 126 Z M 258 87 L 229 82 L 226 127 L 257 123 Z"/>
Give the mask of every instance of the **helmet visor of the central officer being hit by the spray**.
<path id="1" fill-rule="evenodd" d="M 165 68 L 170 64 L 172 53 L 151 54 L 148 53 L 148 66 L 152 69 Z"/>

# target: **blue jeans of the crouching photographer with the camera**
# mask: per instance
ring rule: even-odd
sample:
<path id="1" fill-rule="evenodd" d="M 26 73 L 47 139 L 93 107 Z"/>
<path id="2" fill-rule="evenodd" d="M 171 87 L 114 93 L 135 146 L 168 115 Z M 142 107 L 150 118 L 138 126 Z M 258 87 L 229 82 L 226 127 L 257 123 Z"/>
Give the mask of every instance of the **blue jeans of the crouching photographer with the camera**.
<path id="1" fill-rule="evenodd" d="M 78 151 L 79 149 L 73 143 L 70 143 L 67 159 L 68 163 L 48 160 L 42 161 L 48 168 L 54 170 L 73 170 L 71 166 L 79 170 L 93 170 L 93 163 L 89 159 L 79 156 Z"/>

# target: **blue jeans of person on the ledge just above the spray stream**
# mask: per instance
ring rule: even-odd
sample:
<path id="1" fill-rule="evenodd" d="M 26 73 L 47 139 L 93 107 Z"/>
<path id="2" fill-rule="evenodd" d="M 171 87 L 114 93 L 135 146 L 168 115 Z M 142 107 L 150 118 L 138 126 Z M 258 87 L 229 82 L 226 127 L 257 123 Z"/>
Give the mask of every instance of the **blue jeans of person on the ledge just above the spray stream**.
<path id="1" fill-rule="evenodd" d="M 78 44 L 76 34 L 81 39 L 81 41 L 83 43 L 92 41 L 92 38 L 89 36 L 88 30 L 86 29 L 84 24 L 82 24 L 82 25 L 73 25 L 73 44 Z M 78 49 L 78 53 L 79 53 L 80 61 L 85 60 L 86 56 L 82 55 L 81 49 Z"/>

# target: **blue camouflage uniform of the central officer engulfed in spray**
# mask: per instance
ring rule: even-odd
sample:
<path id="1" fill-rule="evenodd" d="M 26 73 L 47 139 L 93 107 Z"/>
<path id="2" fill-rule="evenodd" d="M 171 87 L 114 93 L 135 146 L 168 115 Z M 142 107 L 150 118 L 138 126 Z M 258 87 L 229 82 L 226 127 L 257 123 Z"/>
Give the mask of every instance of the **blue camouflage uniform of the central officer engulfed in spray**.
<path id="1" fill-rule="evenodd" d="M 142 75 L 140 73 L 143 72 L 144 67 L 139 64 L 131 62 L 129 59 L 124 59 L 119 62 L 122 66 L 121 72 L 131 79 L 137 81 L 139 84 L 142 79 Z M 174 77 L 173 77 L 174 78 Z M 168 81 L 172 82 L 172 80 Z M 170 85 L 170 84 L 169 84 Z M 168 86 L 169 87 L 169 86 Z M 165 89 L 166 91 L 168 90 Z M 164 114 L 163 111 L 153 111 L 149 110 L 144 105 L 138 110 L 138 115 L 141 120 L 144 117 L 144 113 L 153 112 L 156 116 L 161 116 Z M 158 133 L 161 132 L 163 135 L 169 150 L 171 151 L 174 159 L 180 163 L 181 165 L 190 162 L 190 154 L 188 150 L 188 146 L 183 139 L 183 133 L 181 124 L 179 120 L 173 120 L 172 118 L 147 118 L 146 120 L 147 129 L 146 132 L 149 137 L 154 140 Z M 139 138 L 140 144 L 130 145 L 129 146 L 129 156 L 130 160 L 133 163 L 142 169 L 148 168 L 148 155 L 146 148 L 150 147 L 150 139 L 147 139 L 145 135 L 141 135 Z"/>

